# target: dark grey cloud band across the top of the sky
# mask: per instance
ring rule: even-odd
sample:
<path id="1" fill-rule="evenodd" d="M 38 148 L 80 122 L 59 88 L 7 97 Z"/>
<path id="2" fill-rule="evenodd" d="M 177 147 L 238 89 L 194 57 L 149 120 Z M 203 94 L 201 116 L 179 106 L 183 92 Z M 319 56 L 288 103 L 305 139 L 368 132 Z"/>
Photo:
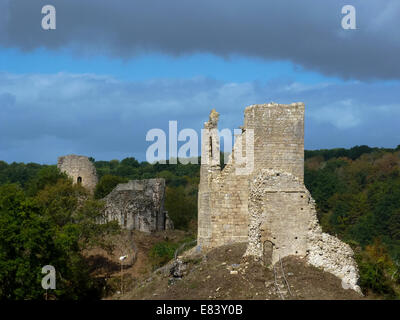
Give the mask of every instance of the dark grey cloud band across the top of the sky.
<path id="1" fill-rule="evenodd" d="M 73 48 L 129 58 L 156 51 L 289 60 L 354 79 L 400 79 L 398 0 L 2 0 L 0 45 Z M 41 29 L 41 8 L 57 9 L 57 30 Z M 357 9 L 357 30 L 341 8 Z"/>

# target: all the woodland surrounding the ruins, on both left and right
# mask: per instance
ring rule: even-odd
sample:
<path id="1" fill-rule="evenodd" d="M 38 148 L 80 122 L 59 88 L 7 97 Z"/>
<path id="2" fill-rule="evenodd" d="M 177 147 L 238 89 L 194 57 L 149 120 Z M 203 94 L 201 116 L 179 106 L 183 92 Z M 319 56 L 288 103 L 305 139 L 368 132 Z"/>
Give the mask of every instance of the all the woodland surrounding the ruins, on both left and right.
<path id="1" fill-rule="evenodd" d="M 130 179 L 165 178 L 175 227 L 196 234 L 199 165 L 91 161 L 93 198 L 56 166 L 0 161 L 0 299 L 43 298 L 40 269 L 50 262 L 61 266 L 58 298 L 99 297 L 81 252 L 118 232 L 96 223 L 100 199 Z M 354 249 L 364 292 L 400 297 L 400 146 L 305 151 L 305 184 L 324 231 Z"/>

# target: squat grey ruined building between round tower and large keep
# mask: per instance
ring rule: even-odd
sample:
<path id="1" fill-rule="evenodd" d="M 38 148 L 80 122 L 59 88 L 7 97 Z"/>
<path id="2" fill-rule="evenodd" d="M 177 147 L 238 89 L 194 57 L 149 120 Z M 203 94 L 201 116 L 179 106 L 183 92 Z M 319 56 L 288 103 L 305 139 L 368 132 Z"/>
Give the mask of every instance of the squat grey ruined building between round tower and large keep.
<path id="1" fill-rule="evenodd" d="M 152 232 L 173 228 L 164 211 L 165 180 L 131 180 L 118 184 L 103 200 L 107 219 L 128 230 Z"/>

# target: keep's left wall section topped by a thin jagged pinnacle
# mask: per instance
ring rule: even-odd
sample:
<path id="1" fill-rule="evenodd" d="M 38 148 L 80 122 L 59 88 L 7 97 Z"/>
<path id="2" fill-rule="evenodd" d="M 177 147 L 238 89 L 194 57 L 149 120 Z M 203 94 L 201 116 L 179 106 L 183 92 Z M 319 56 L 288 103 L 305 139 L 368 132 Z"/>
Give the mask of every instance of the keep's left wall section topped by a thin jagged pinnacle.
<path id="1" fill-rule="evenodd" d="M 205 248 L 246 241 L 248 233 L 248 177 L 236 175 L 233 158 L 221 171 L 218 119 L 212 110 L 202 137 L 198 243 Z"/>

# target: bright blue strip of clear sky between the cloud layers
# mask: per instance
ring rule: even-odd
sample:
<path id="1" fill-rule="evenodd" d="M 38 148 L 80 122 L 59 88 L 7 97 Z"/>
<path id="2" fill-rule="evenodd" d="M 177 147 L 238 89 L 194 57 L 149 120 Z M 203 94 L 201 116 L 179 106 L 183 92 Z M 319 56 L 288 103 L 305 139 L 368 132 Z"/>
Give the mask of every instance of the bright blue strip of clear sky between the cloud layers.
<path id="1" fill-rule="evenodd" d="M 143 81 L 160 78 L 190 79 L 198 76 L 223 81 L 267 81 L 276 78 L 317 83 L 335 77 L 302 70 L 290 61 L 264 61 L 245 56 L 224 59 L 211 54 L 191 54 L 172 57 L 160 53 L 134 56 L 130 59 L 110 58 L 101 54 L 78 56 L 70 50 L 56 52 L 43 48 L 21 52 L 15 48 L 0 51 L 0 70 L 16 74 L 59 72 L 102 74 L 124 81 Z"/>

